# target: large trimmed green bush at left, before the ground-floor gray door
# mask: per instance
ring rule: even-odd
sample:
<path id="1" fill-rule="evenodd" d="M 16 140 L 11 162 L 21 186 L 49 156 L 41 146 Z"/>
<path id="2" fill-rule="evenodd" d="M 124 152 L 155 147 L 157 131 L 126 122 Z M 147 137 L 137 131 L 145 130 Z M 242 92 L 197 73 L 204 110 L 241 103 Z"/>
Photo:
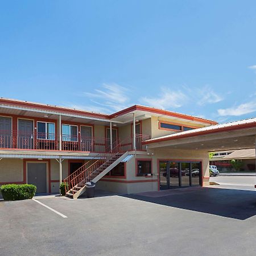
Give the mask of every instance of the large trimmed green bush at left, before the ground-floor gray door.
<path id="1" fill-rule="evenodd" d="M 14 201 L 32 199 L 35 196 L 36 186 L 31 184 L 7 184 L 0 188 L 3 199 Z"/>

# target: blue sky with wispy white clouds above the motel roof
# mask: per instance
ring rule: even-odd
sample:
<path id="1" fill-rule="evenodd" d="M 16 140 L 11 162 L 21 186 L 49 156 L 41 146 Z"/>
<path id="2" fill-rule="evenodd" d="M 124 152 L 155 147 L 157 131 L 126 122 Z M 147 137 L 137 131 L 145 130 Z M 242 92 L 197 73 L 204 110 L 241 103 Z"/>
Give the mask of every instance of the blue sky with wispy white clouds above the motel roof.
<path id="1" fill-rule="evenodd" d="M 256 116 L 256 1 L 1 1 L 0 95 Z"/>

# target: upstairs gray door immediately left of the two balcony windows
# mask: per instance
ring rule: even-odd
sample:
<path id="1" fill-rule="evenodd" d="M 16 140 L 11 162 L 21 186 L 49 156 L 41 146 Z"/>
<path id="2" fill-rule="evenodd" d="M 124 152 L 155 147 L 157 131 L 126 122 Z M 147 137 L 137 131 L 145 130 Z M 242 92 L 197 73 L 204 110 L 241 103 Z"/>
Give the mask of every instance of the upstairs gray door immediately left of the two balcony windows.
<path id="1" fill-rule="evenodd" d="M 18 119 L 18 147 L 33 149 L 34 136 L 33 136 L 34 123 L 32 120 Z"/>

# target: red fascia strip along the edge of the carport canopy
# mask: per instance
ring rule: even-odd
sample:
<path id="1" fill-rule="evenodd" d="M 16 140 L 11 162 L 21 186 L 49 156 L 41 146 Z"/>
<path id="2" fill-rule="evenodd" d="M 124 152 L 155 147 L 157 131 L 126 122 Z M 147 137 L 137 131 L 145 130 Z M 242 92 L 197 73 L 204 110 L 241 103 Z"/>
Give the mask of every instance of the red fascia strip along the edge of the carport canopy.
<path id="1" fill-rule="evenodd" d="M 254 128 L 256 127 L 256 122 L 253 123 L 242 123 L 239 125 L 233 125 L 233 126 L 228 126 L 228 127 L 221 127 L 217 128 L 214 130 L 206 130 L 206 131 L 197 131 L 195 133 L 188 133 L 188 134 L 180 134 L 174 137 L 166 137 L 166 138 L 159 138 L 159 139 L 154 139 L 154 141 L 145 141 L 142 142 L 142 144 L 152 144 L 156 142 L 162 142 L 162 141 L 171 141 L 173 139 L 182 139 L 182 138 L 189 138 L 189 137 L 196 137 L 198 135 L 207 135 L 211 133 L 220 133 L 224 131 L 234 131 L 234 130 L 240 130 L 240 129 L 249 129 L 249 128 Z"/>

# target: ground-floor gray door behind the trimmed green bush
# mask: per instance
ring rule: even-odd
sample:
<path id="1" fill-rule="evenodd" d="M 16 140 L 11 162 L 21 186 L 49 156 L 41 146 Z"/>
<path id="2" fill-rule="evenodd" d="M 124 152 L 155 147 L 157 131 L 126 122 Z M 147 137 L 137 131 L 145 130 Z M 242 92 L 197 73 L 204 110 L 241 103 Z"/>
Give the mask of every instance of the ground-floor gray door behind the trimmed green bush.
<path id="1" fill-rule="evenodd" d="M 46 163 L 27 163 L 27 183 L 36 186 L 36 193 L 47 193 Z"/>

